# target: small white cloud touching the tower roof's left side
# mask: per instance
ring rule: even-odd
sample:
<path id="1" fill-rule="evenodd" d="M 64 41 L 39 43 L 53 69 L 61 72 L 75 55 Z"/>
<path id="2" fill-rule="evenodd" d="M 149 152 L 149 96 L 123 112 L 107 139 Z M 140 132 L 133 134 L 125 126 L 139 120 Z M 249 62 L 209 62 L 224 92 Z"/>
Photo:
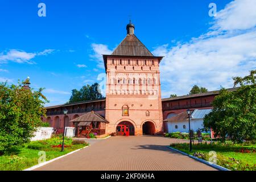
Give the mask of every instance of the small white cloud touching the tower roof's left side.
<path id="1" fill-rule="evenodd" d="M 90 55 L 90 57 L 97 61 L 98 68 L 104 68 L 104 61 L 102 59 L 102 55 L 110 55 L 113 51 L 104 44 L 92 44 L 91 46 L 94 54 Z"/>

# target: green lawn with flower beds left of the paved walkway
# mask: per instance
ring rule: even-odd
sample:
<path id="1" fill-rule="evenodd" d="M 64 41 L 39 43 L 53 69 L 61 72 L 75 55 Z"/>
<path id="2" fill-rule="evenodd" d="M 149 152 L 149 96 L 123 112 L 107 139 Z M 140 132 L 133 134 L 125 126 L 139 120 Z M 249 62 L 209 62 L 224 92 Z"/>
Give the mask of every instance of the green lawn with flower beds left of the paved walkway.
<path id="1" fill-rule="evenodd" d="M 64 152 L 60 152 L 61 148 L 52 147 L 60 143 L 61 137 L 53 137 L 48 140 L 30 142 L 22 147 L 13 147 L 7 154 L 0 156 L 0 171 L 18 171 L 38 164 L 38 159 L 40 158 L 39 151 L 45 151 L 46 160 L 51 160 L 88 146 L 88 143 L 73 142 L 72 139 L 65 138 L 67 146 Z"/>

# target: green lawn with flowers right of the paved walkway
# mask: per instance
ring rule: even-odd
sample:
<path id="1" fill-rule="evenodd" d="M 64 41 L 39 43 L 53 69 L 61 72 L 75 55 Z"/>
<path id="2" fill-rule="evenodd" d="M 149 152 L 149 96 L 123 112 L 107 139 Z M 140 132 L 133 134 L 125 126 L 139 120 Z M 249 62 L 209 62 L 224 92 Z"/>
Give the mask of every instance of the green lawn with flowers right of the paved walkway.
<path id="1" fill-rule="evenodd" d="M 209 151 L 215 151 L 220 166 L 230 170 L 256 170 L 256 144 L 203 143 L 192 145 L 192 152 L 189 152 L 188 143 L 173 143 L 170 146 L 207 161 Z"/>

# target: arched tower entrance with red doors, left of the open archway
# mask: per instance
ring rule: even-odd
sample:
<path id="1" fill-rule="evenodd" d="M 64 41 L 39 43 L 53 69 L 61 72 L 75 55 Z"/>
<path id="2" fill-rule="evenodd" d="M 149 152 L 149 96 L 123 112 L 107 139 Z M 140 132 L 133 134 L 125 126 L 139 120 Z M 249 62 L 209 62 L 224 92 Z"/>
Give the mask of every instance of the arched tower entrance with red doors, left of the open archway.
<path id="1" fill-rule="evenodd" d="M 117 125 L 117 135 L 118 136 L 134 136 L 134 126 L 129 121 L 122 121 Z"/>

